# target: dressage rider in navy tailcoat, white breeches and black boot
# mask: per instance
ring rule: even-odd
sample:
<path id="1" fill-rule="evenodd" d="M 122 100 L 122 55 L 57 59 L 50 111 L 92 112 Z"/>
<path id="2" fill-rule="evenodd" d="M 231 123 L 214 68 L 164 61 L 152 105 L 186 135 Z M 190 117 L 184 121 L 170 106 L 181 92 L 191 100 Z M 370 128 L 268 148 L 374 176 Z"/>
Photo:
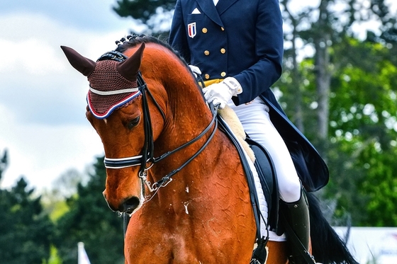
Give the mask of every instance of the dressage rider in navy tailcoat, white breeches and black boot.
<path id="1" fill-rule="evenodd" d="M 313 177 L 313 172 L 324 172 L 320 180 L 310 181 L 317 185 L 308 183 L 309 189 L 318 190 L 328 182 L 328 169 L 288 120 L 270 89 L 281 76 L 283 43 L 277 0 L 177 0 L 169 44 L 194 65 L 193 71 L 202 72 L 208 103 L 219 104 L 219 108 L 230 105 L 250 138 L 269 151 L 279 183 L 280 208 L 308 249 L 308 202 L 285 137 L 295 137 L 293 142 L 303 144 L 309 156 L 320 160 L 319 171 L 311 170 L 305 162 L 298 164 L 306 168 L 306 178 L 318 177 Z M 287 240 L 291 241 L 288 234 Z M 307 263 L 298 248 L 290 247 L 290 263 Z"/>

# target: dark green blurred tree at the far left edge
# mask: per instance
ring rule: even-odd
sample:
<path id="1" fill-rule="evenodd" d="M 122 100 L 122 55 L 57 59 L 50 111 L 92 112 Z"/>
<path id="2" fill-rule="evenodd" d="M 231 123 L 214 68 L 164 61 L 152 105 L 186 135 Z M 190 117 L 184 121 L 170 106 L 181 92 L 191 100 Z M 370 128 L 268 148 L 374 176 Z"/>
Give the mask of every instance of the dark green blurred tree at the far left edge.
<path id="1" fill-rule="evenodd" d="M 0 190 L 0 260 L 5 264 L 42 263 L 50 257 L 53 224 L 21 178 Z"/>

